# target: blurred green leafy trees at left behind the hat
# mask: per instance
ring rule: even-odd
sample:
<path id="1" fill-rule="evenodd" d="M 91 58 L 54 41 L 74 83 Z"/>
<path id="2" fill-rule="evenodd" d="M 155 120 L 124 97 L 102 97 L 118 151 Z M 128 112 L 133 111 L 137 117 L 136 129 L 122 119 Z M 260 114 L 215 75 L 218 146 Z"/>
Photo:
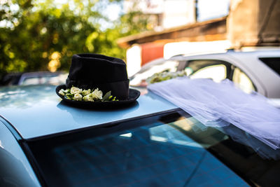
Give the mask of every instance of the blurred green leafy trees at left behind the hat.
<path id="1" fill-rule="evenodd" d="M 147 28 L 140 12 L 109 20 L 106 6 L 121 6 L 122 0 L 66 2 L 0 1 L 0 78 L 14 71 L 68 70 L 75 53 L 124 59 L 125 50 L 118 47 L 116 39 Z"/>

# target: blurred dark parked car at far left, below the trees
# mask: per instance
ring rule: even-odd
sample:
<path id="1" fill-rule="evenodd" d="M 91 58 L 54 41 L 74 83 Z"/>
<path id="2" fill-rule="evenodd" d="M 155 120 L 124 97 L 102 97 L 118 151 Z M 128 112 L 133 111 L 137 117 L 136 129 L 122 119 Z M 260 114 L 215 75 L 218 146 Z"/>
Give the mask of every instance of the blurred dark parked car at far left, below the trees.
<path id="1" fill-rule="evenodd" d="M 65 82 L 68 74 L 64 71 L 35 71 L 7 74 L 0 81 L 1 85 L 59 85 Z"/>

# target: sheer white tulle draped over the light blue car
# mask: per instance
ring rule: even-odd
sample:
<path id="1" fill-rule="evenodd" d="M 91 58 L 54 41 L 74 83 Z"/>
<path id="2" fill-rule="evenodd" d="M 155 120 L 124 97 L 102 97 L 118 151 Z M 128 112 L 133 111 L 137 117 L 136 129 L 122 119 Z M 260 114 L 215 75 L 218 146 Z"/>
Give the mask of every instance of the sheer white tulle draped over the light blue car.
<path id="1" fill-rule="evenodd" d="M 280 109 L 256 92 L 246 94 L 232 81 L 188 77 L 148 85 L 157 95 L 211 127 L 235 125 L 268 146 L 280 148 Z"/>

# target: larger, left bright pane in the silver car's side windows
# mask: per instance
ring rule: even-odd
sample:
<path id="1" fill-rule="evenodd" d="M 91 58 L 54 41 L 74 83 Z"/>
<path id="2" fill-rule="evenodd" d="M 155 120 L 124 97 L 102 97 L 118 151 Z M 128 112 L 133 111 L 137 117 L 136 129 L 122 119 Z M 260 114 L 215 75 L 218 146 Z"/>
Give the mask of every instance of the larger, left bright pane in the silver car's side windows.
<path id="1" fill-rule="evenodd" d="M 211 78 L 215 82 L 221 82 L 226 76 L 226 67 L 223 64 L 204 67 L 195 71 L 190 78 Z"/>

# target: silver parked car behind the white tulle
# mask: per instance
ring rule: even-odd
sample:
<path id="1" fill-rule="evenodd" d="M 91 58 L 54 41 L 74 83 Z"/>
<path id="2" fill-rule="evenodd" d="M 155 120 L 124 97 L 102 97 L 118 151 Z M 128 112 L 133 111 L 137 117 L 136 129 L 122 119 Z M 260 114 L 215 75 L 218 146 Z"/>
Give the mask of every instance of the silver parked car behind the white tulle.
<path id="1" fill-rule="evenodd" d="M 279 49 L 251 52 L 228 50 L 227 53 L 178 55 L 169 60 L 161 60 L 160 64 L 170 61 L 174 62 L 174 66 L 164 71 L 186 71 L 190 78 L 212 78 L 216 82 L 228 78 L 238 83 L 245 92 L 254 90 L 268 98 L 280 98 Z M 149 69 L 146 70 L 146 67 Z M 142 87 L 143 90 L 148 76 L 145 78 L 139 76 L 150 71 L 154 64 L 147 64 L 146 67 L 132 76 L 132 86 Z M 161 71 L 162 69 L 158 69 L 157 73 Z M 141 84 L 134 81 L 137 79 L 141 79 Z"/>

